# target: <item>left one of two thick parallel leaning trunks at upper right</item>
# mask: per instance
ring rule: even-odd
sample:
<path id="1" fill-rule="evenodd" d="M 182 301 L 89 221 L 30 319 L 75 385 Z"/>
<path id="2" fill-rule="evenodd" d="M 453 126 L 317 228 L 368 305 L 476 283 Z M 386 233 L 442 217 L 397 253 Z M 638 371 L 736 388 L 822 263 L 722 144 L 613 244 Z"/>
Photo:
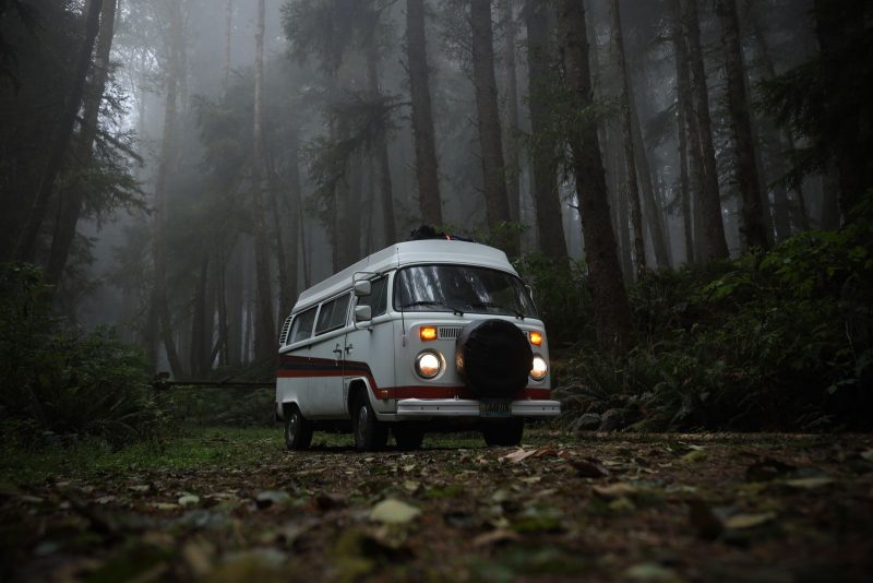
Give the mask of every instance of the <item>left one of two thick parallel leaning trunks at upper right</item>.
<path id="1" fill-rule="evenodd" d="M 718 168 L 716 151 L 713 143 L 713 122 L 709 116 L 709 90 L 706 84 L 706 67 L 701 48 L 701 25 L 697 17 L 697 0 L 681 0 L 682 28 L 691 72 L 691 110 L 695 117 L 698 145 L 702 155 L 701 190 L 697 203 L 703 219 L 698 235 L 698 259 L 711 261 L 728 257 L 728 243 L 725 238 L 725 225 L 721 219 L 721 198 L 718 189 Z M 693 146 L 692 146 L 693 147 Z"/>

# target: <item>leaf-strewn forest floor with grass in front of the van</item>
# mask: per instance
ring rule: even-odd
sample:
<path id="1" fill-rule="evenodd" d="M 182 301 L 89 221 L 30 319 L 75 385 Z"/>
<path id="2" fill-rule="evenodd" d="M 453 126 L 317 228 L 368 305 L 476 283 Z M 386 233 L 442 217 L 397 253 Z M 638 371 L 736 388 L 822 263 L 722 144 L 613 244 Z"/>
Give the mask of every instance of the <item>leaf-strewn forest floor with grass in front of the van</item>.
<path id="1" fill-rule="evenodd" d="M 873 573 L 873 436 L 529 430 L 356 453 L 205 429 L 0 461 L 0 580 L 833 581 Z M 93 450 L 93 448 L 92 448 Z"/>

